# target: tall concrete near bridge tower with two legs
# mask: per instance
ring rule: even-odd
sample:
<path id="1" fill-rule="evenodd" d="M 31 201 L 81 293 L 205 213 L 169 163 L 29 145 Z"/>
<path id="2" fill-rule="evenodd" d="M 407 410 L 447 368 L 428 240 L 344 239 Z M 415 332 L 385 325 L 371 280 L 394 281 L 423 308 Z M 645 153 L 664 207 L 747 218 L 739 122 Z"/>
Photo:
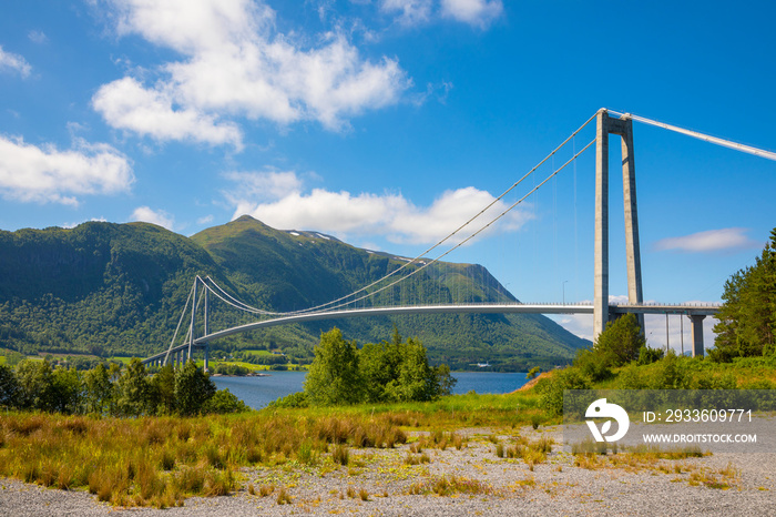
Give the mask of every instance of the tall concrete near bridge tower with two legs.
<path id="1" fill-rule="evenodd" d="M 633 159 L 633 121 L 623 115 L 609 116 L 605 109 L 596 115 L 595 144 L 595 286 L 593 300 L 593 339 L 598 339 L 610 320 L 609 306 L 609 135 L 622 139 L 622 186 L 625 200 L 625 253 L 627 260 L 627 302 L 641 304 L 641 251 L 636 211 L 636 171 Z M 637 314 L 644 330 L 644 315 Z"/>

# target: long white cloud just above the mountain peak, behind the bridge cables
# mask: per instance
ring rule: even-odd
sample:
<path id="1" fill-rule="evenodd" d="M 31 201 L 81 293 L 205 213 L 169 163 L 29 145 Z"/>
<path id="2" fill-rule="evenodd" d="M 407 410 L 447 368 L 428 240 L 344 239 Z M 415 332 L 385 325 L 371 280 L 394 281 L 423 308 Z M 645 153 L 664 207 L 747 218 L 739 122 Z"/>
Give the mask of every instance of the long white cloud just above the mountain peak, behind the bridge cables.
<path id="1" fill-rule="evenodd" d="M 417 206 L 401 194 L 381 194 L 314 189 L 303 191 L 293 172 L 229 173 L 237 186 L 225 196 L 235 206 L 234 217 L 252 215 L 280 230 L 315 230 L 348 239 L 350 235 L 384 235 L 397 243 L 432 243 L 493 202 L 494 197 L 472 186 L 443 192 L 430 206 Z M 503 212 L 498 202 L 478 222 L 462 232 L 462 241 L 482 222 Z M 513 210 L 487 232 L 513 231 L 530 215 Z"/>

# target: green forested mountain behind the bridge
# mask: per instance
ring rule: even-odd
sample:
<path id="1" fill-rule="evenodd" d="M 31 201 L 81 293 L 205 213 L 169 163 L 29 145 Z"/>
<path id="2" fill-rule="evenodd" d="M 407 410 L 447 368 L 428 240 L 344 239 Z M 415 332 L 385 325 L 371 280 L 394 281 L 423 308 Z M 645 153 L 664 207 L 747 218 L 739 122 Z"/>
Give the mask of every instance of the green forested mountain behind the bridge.
<path id="1" fill-rule="evenodd" d="M 0 347 L 24 353 L 140 355 L 165 349 L 195 275 L 211 276 L 255 307 L 286 312 L 323 304 L 406 264 L 317 232 L 277 231 L 243 216 L 190 239 L 146 223 L 91 222 L 72 230 L 0 231 Z M 479 265 L 439 263 L 385 301 L 513 301 Z M 366 305 L 372 302 L 363 302 Z M 213 298 L 211 328 L 247 323 Z M 275 326 L 214 342 L 223 349 L 280 349 L 304 362 L 331 326 L 359 343 L 394 325 L 453 368 L 565 363 L 589 343 L 537 315 L 380 316 Z"/>

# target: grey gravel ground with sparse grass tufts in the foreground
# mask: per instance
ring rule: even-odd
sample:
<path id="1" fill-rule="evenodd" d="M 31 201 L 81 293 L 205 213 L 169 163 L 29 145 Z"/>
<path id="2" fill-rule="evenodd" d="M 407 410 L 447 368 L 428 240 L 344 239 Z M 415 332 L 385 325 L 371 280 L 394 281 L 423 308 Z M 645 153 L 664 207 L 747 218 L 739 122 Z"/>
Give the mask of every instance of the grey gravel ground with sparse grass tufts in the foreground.
<path id="1" fill-rule="evenodd" d="M 496 447 L 488 440 L 491 429 L 458 433 L 468 437 L 466 446 L 461 450 L 426 448 L 428 464 L 406 465 L 407 445 L 395 449 L 351 449 L 349 467 L 244 469 L 242 488 L 235 494 L 193 497 L 183 507 L 164 510 L 114 508 L 98 503 L 85 491 L 48 489 L 0 478 L 0 515 L 776 515 L 776 453 L 717 454 L 662 460 L 639 468 L 615 467 L 605 462 L 605 466 L 588 469 L 574 466 L 568 448 L 555 445 L 548 460 L 531 472 L 522 460 L 496 456 Z M 497 434 L 504 440 L 513 437 Z M 531 440 L 542 436 L 541 429 L 520 429 L 520 434 Z M 544 434 L 560 442 L 557 432 Z M 680 474 L 675 472 L 677 465 Z M 727 473 L 727 489 L 690 484 L 692 473 L 721 479 L 721 470 Z M 479 489 L 449 496 L 409 494 L 412 486 L 442 476 L 466 479 Z M 248 494 L 251 484 L 255 495 Z M 261 497 L 259 488 L 265 485 L 278 489 Z M 285 487 L 290 504 L 277 503 L 279 487 Z M 355 497 L 348 496 L 348 488 Z M 368 500 L 358 496 L 361 489 L 368 493 Z"/>

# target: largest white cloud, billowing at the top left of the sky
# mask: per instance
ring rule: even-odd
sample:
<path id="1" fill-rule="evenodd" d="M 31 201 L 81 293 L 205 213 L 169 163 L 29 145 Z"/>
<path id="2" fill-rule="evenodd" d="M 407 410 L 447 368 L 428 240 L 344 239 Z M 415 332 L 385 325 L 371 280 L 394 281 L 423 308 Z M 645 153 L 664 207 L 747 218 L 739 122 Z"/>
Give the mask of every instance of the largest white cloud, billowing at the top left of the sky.
<path id="1" fill-rule="evenodd" d="M 314 44 L 277 33 L 275 12 L 261 2 L 111 4 L 119 34 L 139 34 L 183 59 L 164 64 L 151 89 L 131 77 L 102 87 L 93 105 L 109 124 L 161 140 L 236 144 L 236 126 L 219 116 L 339 130 L 348 116 L 396 103 L 410 85 L 396 60 L 363 59 L 341 33 Z"/>

